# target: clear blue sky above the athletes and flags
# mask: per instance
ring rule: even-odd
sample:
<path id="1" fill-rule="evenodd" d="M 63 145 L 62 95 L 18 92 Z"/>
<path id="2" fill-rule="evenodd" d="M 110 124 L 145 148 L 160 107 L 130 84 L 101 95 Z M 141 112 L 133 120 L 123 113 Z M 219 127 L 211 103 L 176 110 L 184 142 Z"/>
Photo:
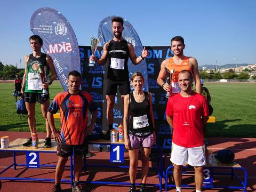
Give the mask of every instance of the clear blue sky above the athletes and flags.
<path id="1" fill-rule="evenodd" d="M 61 12 L 73 27 L 79 45 L 90 45 L 99 22 L 120 15 L 137 30 L 143 45 L 170 45 L 185 38 L 185 55 L 198 65 L 256 63 L 256 1 L 5 1 L 0 2 L 0 61 L 18 63 L 30 54 L 31 15 L 41 7 Z M 236 59 L 234 59 L 236 58 Z"/>

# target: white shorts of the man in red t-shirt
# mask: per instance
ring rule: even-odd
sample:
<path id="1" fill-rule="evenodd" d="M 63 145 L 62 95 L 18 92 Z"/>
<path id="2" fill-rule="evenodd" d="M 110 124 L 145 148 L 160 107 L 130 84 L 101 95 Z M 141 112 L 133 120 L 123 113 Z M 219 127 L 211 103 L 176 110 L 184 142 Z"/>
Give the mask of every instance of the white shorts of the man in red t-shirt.
<path id="1" fill-rule="evenodd" d="M 172 142 L 171 162 L 175 165 L 206 165 L 205 146 L 181 147 Z"/>

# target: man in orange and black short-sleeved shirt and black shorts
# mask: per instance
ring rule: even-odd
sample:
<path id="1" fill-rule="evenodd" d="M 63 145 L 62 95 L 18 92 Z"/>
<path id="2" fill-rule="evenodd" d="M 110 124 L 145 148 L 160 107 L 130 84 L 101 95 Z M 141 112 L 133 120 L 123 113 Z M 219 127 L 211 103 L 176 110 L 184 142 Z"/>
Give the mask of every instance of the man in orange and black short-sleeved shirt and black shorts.
<path id="1" fill-rule="evenodd" d="M 75 182 L 72 191 L 83 191 L 79 185 L 79 175 L 82 169 L 82 155 L 86 149 L 87 136 L 93 131 L 97 118 L 97 107 L 90 93 L 79 90 L 81 74 L 71 71 L 68 75 L 69 90 L 55 96 L 48 109 L 47 119 L 54 139 L 58 142 L 59 156 L 55 173 L 55 185 L 52 191 L 61 191 L 60 180 L 68 157 L 75 151 Z M 60 109 L 60 132 L 54 125 L 53 114 Z M 87 111 L 92 113 L 91 124 L 87 126 Z"/>

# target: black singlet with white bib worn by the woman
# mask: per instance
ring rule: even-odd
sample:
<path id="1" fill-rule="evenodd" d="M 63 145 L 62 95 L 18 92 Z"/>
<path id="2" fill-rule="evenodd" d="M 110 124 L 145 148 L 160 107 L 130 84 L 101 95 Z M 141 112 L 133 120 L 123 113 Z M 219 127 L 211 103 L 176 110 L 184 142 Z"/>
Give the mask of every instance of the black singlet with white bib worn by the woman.
<path id="1" fill-rule="evenodd" d="M 137 137 L 146 137 L 153 133 L 153 124 L 150 116 L 150 101 L 148 92 L 144 92 L 145 99 L 137 102 L 133 93 L 130 93 L 128 133 Z"/>

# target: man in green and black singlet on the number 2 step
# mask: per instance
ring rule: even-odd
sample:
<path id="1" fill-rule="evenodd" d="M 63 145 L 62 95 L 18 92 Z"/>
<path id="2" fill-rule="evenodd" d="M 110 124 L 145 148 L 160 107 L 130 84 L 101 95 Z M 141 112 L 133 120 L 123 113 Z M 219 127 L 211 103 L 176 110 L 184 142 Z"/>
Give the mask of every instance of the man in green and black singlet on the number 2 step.
<path id="1" fill-rule="evenodd" d="M 46 124 L 46 139 L 44 147 L 51 147 L 51 129 L 47 122 L 46 114 L 49 108 L 49 85 L 56 78 L 56 71 L 53 65 L 52 58 L 41 52 L 43 40 L 38 35 L 29 37 L 29 42 L 33 53 L 25 56 L 25 74 L 23 76 L 21 93 L 26 101 L 28 110 L 28 125 L 31 134 L 36 133 L 35 106 L 36 102 L 41 104 L 41 110 Z M 46 67 L 46 83 L 42 84 L 39 78 L 37 67 Z M 52 76 L 49 77 L 51 71 Z M 48 94 L 42 94 L 43 90 L 47 90 Z M 32 145 L 31 137 L 22 146 L 29 147 Z"/>

